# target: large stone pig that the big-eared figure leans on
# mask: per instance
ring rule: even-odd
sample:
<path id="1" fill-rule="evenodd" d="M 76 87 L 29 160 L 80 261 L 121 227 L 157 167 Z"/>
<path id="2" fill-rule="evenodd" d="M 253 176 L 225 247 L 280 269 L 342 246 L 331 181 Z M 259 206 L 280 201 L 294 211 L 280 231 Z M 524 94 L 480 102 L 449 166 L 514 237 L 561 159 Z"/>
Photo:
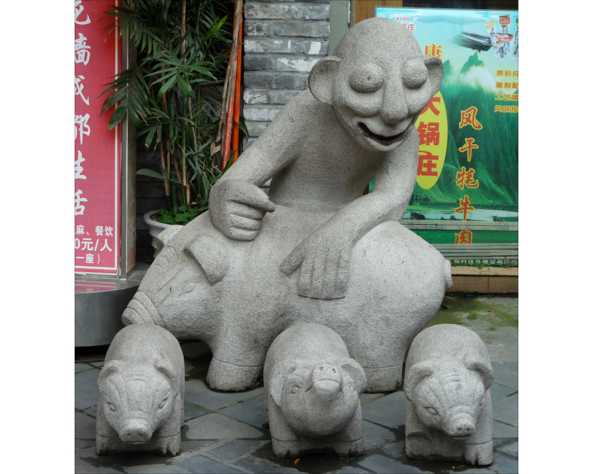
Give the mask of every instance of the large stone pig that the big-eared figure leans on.
<path id="1" fill-rule="evenodd" d="M 395 390 L 407 347 L 451 287 L 451 265 L 415 233 L 385 222 L 354 246 L 344 298 L 300 296 L 298 275 L 287 277 L 280 262 L 331 215 L 277 206 L 253 241 L 222 235 L 208 213 L 171 226 L 157 239 L 163 248 L 124 324 L 156 324 L 178 340 L 205 341 L 213 353 L 209 385 L 245 390 L 257 382 L 280 332 L 315 322 L 342 337 L 365 370 L 369 392 Z"/>

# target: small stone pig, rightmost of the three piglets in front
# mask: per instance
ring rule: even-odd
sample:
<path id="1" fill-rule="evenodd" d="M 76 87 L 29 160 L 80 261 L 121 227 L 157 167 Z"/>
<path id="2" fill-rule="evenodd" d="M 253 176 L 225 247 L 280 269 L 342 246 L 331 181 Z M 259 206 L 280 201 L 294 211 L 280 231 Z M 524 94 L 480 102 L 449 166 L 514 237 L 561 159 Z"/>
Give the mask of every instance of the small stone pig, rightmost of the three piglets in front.
<path id="1" fill-rule="evenodd" d="M 406 360 L 406 455 L 492 463 L 492 380 L 473 331 L 441 324 L 420 332 Z"/>

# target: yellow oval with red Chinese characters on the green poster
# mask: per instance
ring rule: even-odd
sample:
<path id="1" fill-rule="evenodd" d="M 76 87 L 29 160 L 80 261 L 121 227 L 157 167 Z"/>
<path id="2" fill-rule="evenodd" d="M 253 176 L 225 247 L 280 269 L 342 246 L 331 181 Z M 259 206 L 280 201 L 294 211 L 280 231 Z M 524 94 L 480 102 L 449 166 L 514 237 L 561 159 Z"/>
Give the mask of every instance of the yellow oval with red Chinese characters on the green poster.
<path id="1" fill-rule="evenodd" d="M 447 154 L 447 127 L 445 101 L 438 91 L 416 121 L 420 139 L 416 181 L 423 189 L 432 188 L 441 175 Z"/>

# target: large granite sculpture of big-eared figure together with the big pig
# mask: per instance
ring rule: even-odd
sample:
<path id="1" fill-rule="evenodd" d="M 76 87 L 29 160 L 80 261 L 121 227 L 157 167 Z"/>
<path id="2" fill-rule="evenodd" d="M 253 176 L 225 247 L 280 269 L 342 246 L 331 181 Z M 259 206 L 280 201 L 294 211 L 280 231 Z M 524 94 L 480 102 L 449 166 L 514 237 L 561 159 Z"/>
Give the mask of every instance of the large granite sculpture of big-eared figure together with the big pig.
<path id="1" fill-rule="evenodd" d="M 416 182 L 414 124 L 441 82 L 441 61 L 396 21 L 350 28 L 214 185 L 209 212 L 162 234 L 124 323 L 205 341 L 217 390 L 253 386 L 289 326 L 322 324 L 366 390 L 395 390 L 452 284 L 449 262 L 397 222 Z"/>

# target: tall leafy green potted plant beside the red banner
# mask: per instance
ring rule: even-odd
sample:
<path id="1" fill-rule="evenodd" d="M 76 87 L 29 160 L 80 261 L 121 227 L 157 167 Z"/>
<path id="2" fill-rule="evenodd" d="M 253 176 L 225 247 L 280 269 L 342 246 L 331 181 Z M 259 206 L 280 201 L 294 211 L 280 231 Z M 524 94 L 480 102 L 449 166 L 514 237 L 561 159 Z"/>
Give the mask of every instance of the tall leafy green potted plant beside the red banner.
<path id="1" fill-rule="evenodd" d="M 185 225 L 208 209 L 210 189 L 223 172 L 213 140 L 231 52 L 229 7 L 224 0 L 137 0 L 109 13 L 116 17 L 111 24 L 129 33 L 137 59 L 103 92 L 109 94 L 103 111 L 119 103 L 110 128 L 128 114 L 135 138 L 144 137 L 146 149 L 160 155 L 160 172 L 137 174 L 162 180 L 166 209 L 145 217 L 150 223 L 149 214 L 158 214 L 161 228 Z M 153 245 L 160 230 L 151 232 Z"/>

